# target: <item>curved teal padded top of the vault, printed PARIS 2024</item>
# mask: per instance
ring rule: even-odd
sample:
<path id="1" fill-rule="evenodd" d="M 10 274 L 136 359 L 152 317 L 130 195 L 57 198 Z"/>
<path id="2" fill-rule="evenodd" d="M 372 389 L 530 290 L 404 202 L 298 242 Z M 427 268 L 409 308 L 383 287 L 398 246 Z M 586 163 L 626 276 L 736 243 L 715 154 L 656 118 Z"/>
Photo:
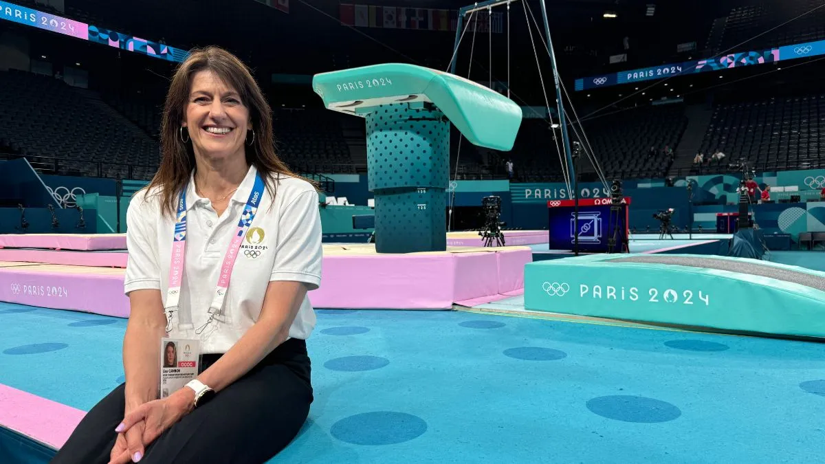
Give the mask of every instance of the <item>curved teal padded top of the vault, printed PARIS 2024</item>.
<path id="1" fill-rule="evenodd" d="M 391 103 L 431 103 L 470 143 L 507 151 L 521 125 L 521 107 L 455 74 L 414 64 L 374 64 L 315 74 L 313 89 L 332 111 L 364 116 Z"/>

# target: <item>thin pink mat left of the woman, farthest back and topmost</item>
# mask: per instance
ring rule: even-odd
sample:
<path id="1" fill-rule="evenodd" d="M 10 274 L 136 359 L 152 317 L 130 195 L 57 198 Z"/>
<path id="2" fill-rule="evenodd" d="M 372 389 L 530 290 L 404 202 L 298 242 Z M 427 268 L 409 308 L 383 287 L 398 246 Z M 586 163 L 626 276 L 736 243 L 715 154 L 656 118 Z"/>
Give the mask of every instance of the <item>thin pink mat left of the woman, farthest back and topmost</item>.
<path id="1" fill-rule="evenodd" d="M 0 247 L 19 249 L 126 249 L 126 234 L 0 234 Z"/>

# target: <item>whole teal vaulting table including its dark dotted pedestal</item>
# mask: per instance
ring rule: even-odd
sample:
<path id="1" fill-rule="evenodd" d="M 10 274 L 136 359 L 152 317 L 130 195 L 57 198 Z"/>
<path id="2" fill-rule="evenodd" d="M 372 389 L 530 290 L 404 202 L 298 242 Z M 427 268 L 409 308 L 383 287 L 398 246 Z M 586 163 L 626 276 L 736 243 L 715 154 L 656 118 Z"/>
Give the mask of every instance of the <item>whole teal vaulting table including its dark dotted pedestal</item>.
<path id="1" fill-rule="evenodd" d="M 411 64 L 318 74 L 331 110 L 366 121 L 367 177 L 378 253 L 444 251 L 450 122 L 470 143 L 509 150 L 521 108 L 489 88 Z"/>

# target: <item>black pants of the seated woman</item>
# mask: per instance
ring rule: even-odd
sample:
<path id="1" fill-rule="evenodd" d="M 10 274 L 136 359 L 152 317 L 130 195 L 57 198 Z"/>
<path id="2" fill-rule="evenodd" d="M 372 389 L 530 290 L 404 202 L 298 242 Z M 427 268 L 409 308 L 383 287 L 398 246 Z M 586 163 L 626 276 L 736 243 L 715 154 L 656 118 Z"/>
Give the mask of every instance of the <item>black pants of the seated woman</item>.
<path id="1" fill-rule="evenodd" d="M 205 354 L 201 370 L 219 357 Z M 116 387 L 86 414 L 53 464 L 109 462 L 115 427 L 125 415 L 124 388 Z M 295 438 L 312 401 L 306 342 L 289 339 L 246 376 L 149 443 L 140 462 L 266 462 Z"/>

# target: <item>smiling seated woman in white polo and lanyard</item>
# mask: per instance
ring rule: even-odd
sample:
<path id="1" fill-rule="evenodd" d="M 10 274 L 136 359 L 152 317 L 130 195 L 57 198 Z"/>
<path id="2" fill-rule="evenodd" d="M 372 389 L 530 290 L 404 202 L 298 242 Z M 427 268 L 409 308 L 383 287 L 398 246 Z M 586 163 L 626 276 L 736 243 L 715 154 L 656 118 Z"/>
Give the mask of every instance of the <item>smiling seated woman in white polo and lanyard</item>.
<path id="1" fill-rule="evenodd" d="M 56 463 L 265 462 L 309 414 L 318 192 L 277 158 L 271 110 L 240 60 L 190 54 L 161 144 L 158 173 L 127 211 L 126 381 Z M 158 399 L 166 336 L 200 346 L 200 373 Z"/>

